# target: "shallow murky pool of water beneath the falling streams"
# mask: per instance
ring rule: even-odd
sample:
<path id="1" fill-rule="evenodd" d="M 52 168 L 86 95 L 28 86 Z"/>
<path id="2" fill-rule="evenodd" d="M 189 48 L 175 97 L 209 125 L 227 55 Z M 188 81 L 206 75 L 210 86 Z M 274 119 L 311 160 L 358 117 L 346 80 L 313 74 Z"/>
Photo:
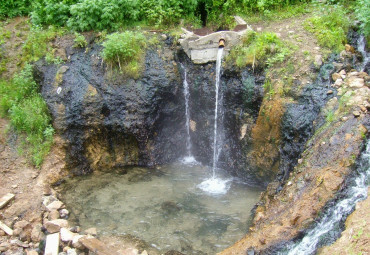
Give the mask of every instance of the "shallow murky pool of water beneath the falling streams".
<path id="1" fill-rule="evenodd" d="M 124 174 L 95 173 L 63 184 L 70 220 L 99 235 L 135 235 L 165 252 L 215 254 L 248 231 L 261 190 L 218 172 L 226 191 L 214 194 L 199 184 L 211 169 L 172 164 Z"/>

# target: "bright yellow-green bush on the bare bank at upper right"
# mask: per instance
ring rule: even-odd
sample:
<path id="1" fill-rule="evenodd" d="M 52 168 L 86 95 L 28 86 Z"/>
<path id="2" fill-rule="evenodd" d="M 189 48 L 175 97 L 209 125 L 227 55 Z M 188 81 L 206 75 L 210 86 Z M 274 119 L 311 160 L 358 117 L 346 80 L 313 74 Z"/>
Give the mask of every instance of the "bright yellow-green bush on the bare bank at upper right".
<path id="1" fill-rule="evenodd" d="M 339 5 L 333 8 L 325 6 L 320 16 L 305 21 L 305 29 L 316 35 L 319 45 L 336 52 L 341 51 L 347 42 L 348 28 L 349 19 Z"/>

